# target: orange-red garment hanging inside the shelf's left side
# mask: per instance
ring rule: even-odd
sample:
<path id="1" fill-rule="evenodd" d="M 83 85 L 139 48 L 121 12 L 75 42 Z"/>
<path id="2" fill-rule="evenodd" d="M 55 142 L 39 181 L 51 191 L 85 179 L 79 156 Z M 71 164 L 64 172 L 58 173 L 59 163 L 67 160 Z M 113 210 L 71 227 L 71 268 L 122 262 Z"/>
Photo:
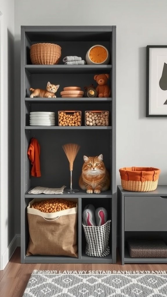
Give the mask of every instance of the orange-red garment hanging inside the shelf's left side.
<path id="1" fill-rule="evenodd" d="M 40 145 L 36 138 L 31 139 L 27 154 L 32 165 L 31 176 L 40 177 Z"/>

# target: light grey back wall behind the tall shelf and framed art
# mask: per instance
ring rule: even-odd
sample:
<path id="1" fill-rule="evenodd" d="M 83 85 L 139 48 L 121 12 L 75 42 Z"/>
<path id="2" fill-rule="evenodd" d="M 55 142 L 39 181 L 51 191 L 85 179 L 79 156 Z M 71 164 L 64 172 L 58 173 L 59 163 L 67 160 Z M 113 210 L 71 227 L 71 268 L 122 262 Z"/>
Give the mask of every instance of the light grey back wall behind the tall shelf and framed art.
<path id="1" fill-rule="evenodd" d="M 146 118 L 146 45 L 167 44 L 167 1 L 15 0 L 18 90 L 21 25 L 116 25 L 117 184 L 119 168 L 129 166 L 160 168 L 159 184 L 167 184 L 167 118 Z M 15 129 L 19 141 L 17 123 Z M 17 173 L 19 163 L 15 165 Z M 19 203 L 18 173 L 15 176 L 15 199 Z M 16 217 L 19 215 L 16 209 Z M 20 233 L 19 222 L 16 233 Z"/>

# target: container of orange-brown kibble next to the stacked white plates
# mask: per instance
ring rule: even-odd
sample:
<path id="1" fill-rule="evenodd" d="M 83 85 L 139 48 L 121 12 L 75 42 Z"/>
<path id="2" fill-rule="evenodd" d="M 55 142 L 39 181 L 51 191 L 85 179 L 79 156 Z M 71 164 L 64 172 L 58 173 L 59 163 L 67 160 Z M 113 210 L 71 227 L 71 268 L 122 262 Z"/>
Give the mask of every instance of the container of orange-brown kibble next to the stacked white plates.
<path id="1" fill-rule="evenodd" d="M 59 126 L 81 126 L 80 110 L 59 110 Z"/>

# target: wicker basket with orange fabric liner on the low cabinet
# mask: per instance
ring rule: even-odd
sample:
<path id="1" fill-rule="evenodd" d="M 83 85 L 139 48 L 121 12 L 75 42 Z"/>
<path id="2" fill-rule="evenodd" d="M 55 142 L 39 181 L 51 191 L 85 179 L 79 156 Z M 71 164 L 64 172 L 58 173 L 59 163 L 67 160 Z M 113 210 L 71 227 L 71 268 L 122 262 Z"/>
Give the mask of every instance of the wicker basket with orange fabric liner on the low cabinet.
<path id="1" fill-rule="evenodd" d="M 154 167 L 124 167 L 119 169 L 124 190 L 149 192 L 157 188 L 160 169 Z"/>

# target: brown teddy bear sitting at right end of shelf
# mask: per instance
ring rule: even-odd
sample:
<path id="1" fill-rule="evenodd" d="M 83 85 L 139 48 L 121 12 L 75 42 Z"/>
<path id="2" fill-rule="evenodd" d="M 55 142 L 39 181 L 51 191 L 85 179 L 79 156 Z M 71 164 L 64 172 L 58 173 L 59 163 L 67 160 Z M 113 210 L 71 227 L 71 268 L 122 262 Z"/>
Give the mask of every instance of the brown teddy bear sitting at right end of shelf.
<path id="1" fill-rule="evenodd" d="M 109 78 L 109 74 L 98 74 L 94 75 L 94 80 L 98 83 L 96 88 L 98 97 L 109 97 L 111 94 L 110 87 L 107 85 L 107 80 Z"/>

